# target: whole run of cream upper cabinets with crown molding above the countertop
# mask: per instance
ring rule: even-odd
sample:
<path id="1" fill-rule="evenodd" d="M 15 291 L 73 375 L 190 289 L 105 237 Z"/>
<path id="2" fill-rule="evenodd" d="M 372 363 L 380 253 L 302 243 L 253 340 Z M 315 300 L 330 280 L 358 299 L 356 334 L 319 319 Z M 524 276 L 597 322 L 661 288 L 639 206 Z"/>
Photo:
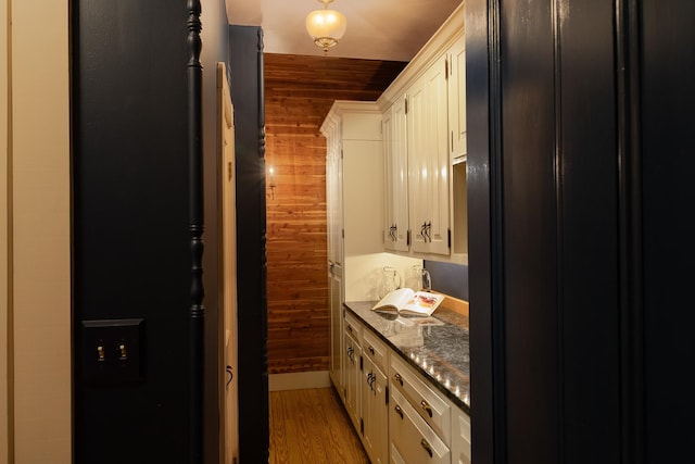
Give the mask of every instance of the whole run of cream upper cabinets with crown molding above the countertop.
<path id="1" fill-rule="evenodd" d="M 468 261 L 465 41 L 462 2 L 377 101 L 387 251 Z"/>

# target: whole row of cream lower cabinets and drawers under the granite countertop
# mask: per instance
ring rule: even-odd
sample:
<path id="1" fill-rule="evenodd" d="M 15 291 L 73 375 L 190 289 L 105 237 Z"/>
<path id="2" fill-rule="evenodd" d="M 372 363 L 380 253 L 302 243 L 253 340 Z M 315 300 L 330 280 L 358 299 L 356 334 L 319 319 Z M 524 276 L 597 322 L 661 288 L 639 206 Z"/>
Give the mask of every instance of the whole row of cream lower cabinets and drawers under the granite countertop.
<path id="1" fill-rule="evenodd" d="M 470 418 L 352 314 L 344 404 L 372 464 L 470 464 Z"/>

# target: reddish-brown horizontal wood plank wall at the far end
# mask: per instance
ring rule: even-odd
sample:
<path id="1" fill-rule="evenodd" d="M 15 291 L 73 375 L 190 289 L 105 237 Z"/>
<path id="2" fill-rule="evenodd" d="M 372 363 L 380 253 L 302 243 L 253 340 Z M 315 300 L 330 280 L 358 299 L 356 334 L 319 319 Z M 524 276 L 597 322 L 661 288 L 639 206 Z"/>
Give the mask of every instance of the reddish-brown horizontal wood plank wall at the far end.
<path id="1" fill-rule="evenodd" d="M 376 100 L 407 63 L 265 54 L 268 373 L 329 368 L 326 139 L 334 100 Z"/>

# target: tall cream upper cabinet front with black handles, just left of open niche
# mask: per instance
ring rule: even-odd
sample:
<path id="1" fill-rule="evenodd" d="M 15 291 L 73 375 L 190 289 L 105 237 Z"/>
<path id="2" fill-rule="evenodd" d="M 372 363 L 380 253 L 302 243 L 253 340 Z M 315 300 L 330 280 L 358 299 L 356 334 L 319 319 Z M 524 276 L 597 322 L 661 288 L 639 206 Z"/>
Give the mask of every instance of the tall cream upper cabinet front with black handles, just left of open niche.
<path id="1" fill-rule="evenodd" d="M 450 159 L 446 55 L 408 90 L 410 240 L 413 251 L 450 254 Z"/>

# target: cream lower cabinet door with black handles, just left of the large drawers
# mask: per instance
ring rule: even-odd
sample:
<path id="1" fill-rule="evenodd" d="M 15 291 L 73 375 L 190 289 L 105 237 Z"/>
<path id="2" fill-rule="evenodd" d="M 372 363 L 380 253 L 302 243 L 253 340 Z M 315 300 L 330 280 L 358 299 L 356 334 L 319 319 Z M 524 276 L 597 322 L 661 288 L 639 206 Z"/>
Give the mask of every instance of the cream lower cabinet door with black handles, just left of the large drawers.
<path id="1" fill-rule="evenodd" d="M 389 410 L 387 376 L 363 354 L 362 369 L 363 442 L 372 464 L 386 464 L 389 455 Z"/>

